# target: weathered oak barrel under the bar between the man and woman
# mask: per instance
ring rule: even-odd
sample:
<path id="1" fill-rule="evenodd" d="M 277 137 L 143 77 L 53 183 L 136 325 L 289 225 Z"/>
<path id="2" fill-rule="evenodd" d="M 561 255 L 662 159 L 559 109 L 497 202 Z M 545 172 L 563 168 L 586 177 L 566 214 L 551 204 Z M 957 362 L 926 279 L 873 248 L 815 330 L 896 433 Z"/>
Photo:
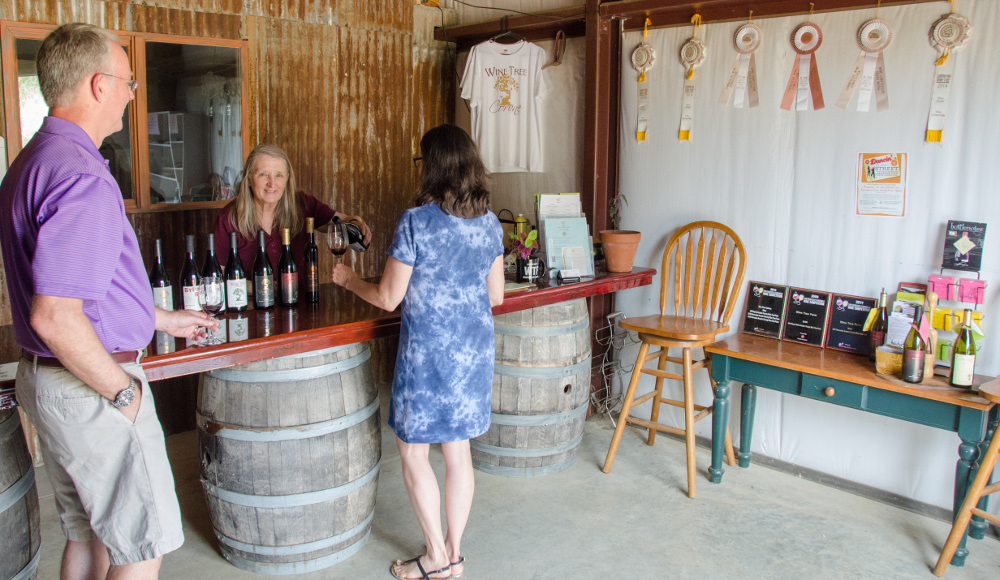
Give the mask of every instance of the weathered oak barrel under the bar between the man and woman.
<path id="1" fill-rule="evenodd" d="M 237 568 L 311 572 L 368 540 L 382 456 L 370 359 L 357 343 L 202 375 L 202 486 Z"/>

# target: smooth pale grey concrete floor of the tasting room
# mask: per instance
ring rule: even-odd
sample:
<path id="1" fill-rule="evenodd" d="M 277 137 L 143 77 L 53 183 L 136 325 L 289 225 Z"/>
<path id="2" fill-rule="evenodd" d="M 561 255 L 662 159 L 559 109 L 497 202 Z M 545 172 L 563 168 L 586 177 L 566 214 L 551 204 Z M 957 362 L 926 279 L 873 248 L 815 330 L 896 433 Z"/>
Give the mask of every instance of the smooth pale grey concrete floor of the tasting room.
<path id="1" fill-rule="evenodd" d="M 386 416 L 383 409 L 382 417 Z M 384 421 L 384 419 L 383 419 Z M 601 472 L 613 427 L 587 422 L 576 463 L 558 474 L 508 479 L 476 472 L 463 542 L 465 576 L 493 578 L 934 578 L 949 526 L 760 465 L 727 467 L 707 480 L 710 452 L 698 449 L 698 498 L 688 499 L 684 447 L 654 447 L 629 428 L 614 469 Z M 423 547 L 400 475 L 392 432 L 383 424 L 382 467 L 371 537 L 351 558 L 302 578 L 391 578 L 395 558 Z M 163 561 L 163 579 L 260 578 L 216 549 L 198 481 L 194 431 L 167 438 L 186 542 Z M 432 461 L 443 481 L 440 448 Z M 51 488 L 38 473 L 42 555 L 38 578 L 58 578 L 64 539 Z M 1000 578 L 1000 542 L 970 540 L 963 568 L 946 578 Z"/>

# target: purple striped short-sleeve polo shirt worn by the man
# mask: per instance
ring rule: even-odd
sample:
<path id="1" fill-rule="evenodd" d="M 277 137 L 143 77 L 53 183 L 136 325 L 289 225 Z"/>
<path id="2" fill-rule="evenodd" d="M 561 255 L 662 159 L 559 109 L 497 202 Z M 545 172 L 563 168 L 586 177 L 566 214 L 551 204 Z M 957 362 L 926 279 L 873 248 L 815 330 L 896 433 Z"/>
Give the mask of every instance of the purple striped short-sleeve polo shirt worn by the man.
<path id="1" fill-rule="evenodd" d="M 82 128 L 45 117 L 0 183 L 0 249 L 28 352 L 52 356 L 31 328 L 35 294 L 82 299 L 108 352 L 153 338 L 153 291 L 107 164 Z"/>

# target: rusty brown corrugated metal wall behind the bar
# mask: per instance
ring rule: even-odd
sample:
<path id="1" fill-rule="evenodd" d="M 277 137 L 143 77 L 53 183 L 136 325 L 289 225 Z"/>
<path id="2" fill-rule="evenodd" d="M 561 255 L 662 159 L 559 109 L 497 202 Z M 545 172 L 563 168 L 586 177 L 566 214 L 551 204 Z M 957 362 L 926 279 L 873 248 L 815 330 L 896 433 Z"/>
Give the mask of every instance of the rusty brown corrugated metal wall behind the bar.
<path id="1" fill-rule="evenodd" d="M 454 118 L 453 57 L 432 38 L 441 14 L 408 0 L 0 0 L 7 20 L 247 40 L 250 140 L 284 148 L 300 189 L 365 218 L 372 246 L 349 258 L 361 276 L 382 271 L 396 219 L 412 205 L 420 136 Z M 133 224 L 146 252 L 168 241 L 176 269 L 183 235 L 199 234 L 201 255 L 216 215 L 144 213 Z M 5 284 L 0 292 L 0 324 L 10 324 Z"/>

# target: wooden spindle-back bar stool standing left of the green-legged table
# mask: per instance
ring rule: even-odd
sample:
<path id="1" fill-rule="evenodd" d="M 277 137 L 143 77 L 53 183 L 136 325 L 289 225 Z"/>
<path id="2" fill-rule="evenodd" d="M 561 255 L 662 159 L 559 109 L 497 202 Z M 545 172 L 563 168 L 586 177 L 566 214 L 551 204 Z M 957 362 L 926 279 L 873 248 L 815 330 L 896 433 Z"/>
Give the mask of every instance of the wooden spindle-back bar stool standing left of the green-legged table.
<path id="1" fill-rule="evenodd" d="M 604 461 L 604 473 L 611 471 L 626 423 L 649 429 L 649 445 L 656 439 L 657 431 L 684 435 L 687 444 L 688 496 L 695 497 L 694 424 L 709 416 L 712 407 L 694 404 L 692 375 L 698 369 L 708 369 L 711 361 L 707 353 L 702 360 L 692 360 L 691 349 L 712 344 L 719 334 L 729 330 L 729 317 L 732 316 L 738 291 L 743 285 L 745 270 L 746 249 L 743 241 L 733 230 L 720 223 L 690 223 L 678 230 L 667 242 L 660 269 L 660 314 L 623 319 L 618 323 L 622 328 L 639 333 L 642 346 L 639 347 L 639 356 L 618 417 L 618 426 L 611 438 L 608 457 Z M 667 314 L 671 290 L 674 314 Z M 650 346 L 657 346 L 659 350 L 650 353 Z M 681 356 L 669 356 L 668 350 L 671 348 L 681 349 Z M 654 361 L 654 368 L 645 368 L 646 364 Z M 681 365 L 682 374 L 668 372 L 668 362 Z M 656 377 L 656 386 L 653 391 L 633 399 L 642 374 Z M 683 382 L 682 400 L 663 398 L 664 379 Z M 709 373 L 709 381 L 711 380 Z M 712 386 L 715 386 L 714 381 Z M 629 416 L 632 407 L 650 399 L 653 400 L 653 409 L 648 421 Z M 684 409 L 684 429 L 658 422 L 661 404 Z M 725 446 L 729 464 L 736 465 L 728 429 Z"/>

